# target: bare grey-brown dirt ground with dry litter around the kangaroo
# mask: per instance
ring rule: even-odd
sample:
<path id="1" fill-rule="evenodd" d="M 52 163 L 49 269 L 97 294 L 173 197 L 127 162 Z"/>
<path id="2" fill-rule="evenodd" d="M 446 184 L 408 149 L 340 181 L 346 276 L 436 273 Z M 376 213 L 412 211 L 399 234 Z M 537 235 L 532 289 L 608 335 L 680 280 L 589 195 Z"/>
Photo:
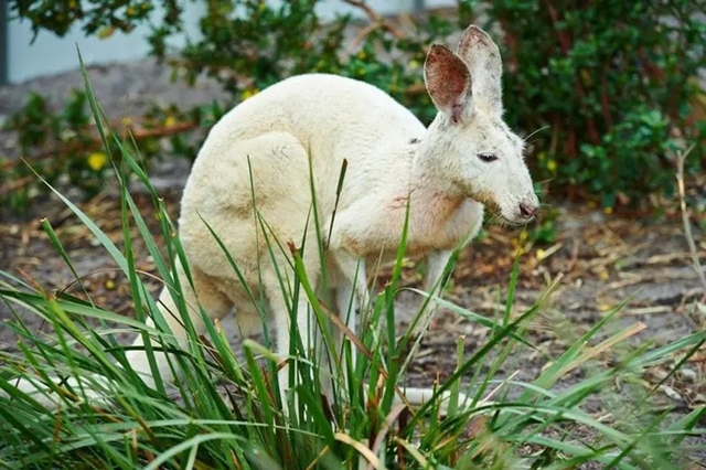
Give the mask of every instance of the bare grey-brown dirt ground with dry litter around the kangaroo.
<path id="1" fill-rule="evenodd" d="M 92 70 L 96 95 L 107 114 L 116 119 L 139 115 L 142 107 L 153 100 L 185 105 L 223 96 L 207 81 L 196 88 L 185 88 L 169 84 L 168 77 L 169 72 L 150 60 Z M 31 89 L 49 93 L 60 103 L 67 89 L 81 86 L 79 74 L 69 73 L 0 87 L 0 115 L 8 116 L 17 110 L 22 105 L 21 98 Z M 13 136 L 3 132 L 0 138 L 3 142 L 0 152 L 10 153 L 15 145 Z M 188 162 L 169 159 L 152 170 L 153 182 L 174 217 L 188 172 Z M 706 186 L 696 188 L 696 191 L 705 194 Z M 150 199 L 139 191 L 136 199 L 157 233 L 154 218 L 149 216 Z M 518 247 L 523 248 L 523 255 L 513 314 L 524 312 L 549 285 L 555 285 L 528 327 L 528 338 L 537 350 L 527 350 L 506 361 L 506 370 L 499 371 L 499 376 L 536 377 L 546 365 L 547 356 L 556 357 L 623 301 L 625 306 L 600 338 L 635 328 L 635 333 L 629 335 L 629 343 L 656 346 L 705 328 L 705 291 L 692 265 L 678 213 L 667 211 L 667 215 L 660 217 L 646 213 L 606 214 L 588 205 L 548 202 L 554 206 L 547 209 L 544 221 L 556 231 L 552 243 L 532 243 L 521 229 L 490 227 L 462 253 L 447 295 L 452 302 L 477 313 L 501 314 L 513 254 Z M 120 201 L 115 188 L 107 188 L 81 206 L 120 246 Z M 549 216 L 556 218 L 553 225 L 546 222 Z M 74 276 L 41 228 L 42 217 L 53 225 L 93 299 L 114 311 L 131 314 L 127 282 L 118 275 L 115 263 L 58 201 L 38 201 L 25 215 L 0 210 L 0 269 L 34 279 L 49 290 L 65 289 L 71 285 L 68 291 L 78 292 L 77 286 L 72 285 Z M 696 224 L 693 228 L 700 259 L 706 260 L 704 232 Z M 140 259 L 138 268 L 156 273 L 143 246 L 138 243 L 136 248 Z M 418 286 L 419 281 L 420 274 L 414 266 L 405 270 L 406 285 Z M 158 290 L 157 282 L 150 285 Z M 411 293 L 403 293 L 398 301 L 402 329 L 418 300 Z M 36 318 L 20 313 L 28 324 L 43 328 Z M 9 318 L 9 309 L 0 302 L 0 320 Z M 638 332 L 642 328 L 643 329 Z M 486 329 L 448 310 L 439 311 L 411 365 L 410 382 L 429 384 L 437 377 L 443 380 L 456 365 L 458 337 L 464 337 L 466 350 L 472 352 L 483 344 L 488 334 Z M 235 332 L 233 338 L 234 348 L 238 348 Z M 0 349 L 12 350 L 14 342 L 12 331 L 0 324 Z M 597 361 L 599 366 L 610 365 L 614 359 L 612 354 L 601 354 Z M 640 377 L 644 389 L 660 384 L 678 360 L 680 355 L 675 354 L 664 364 L 644 371 Z M 558 386 L 569 386 L 588 373 L 577 370 Z M 706 350 L 692 356 L 678 374 L 659 385 L 652 399 L 655 409 L 673 408 L 675 417 L 706 404 Z M 606 403 L 601 399 L 591 400 L 587 406 L 593 408 L 587 409 L 590 413 L 606 413 Z"/>

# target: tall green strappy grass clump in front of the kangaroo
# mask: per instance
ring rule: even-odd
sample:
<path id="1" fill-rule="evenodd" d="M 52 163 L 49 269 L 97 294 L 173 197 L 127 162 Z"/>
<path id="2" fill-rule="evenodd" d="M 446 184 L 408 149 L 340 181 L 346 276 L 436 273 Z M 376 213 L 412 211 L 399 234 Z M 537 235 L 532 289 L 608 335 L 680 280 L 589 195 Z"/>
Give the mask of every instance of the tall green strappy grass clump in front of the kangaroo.
<path id="1" fill-rule="evenodd" d="M 443 406 L 432 399 L 411 409 L 394 399 L 404 389 L 409 351 L 415 349 L 409 348 L 414 342 L 411 333 L 398 337 L 395 329 L 404 243 L 392 279 L 365 309 L 359 334 L 345 333 L 342 349 L 327 334 L 323 350 L 309 354 L 303 350 L 300 332 L 292 328 L 289 360 L 296 367 L 290 367 L 288 404 L 280 403 L 277 370 L 281 361 L 271 352 L 267 335 L 261 344 L 244 341 L 244 357 L 238 359 L 218 323 L 206 322 L 206 334 L 196 335 L 185 306 L 178 301 L 191 340 L 188 350 L 178 349 L 136 268 L 130 229 L 137 227 L 159 277 L 179 299 L 180 284 L 170 266 L 185 257 L 179 237 L 173 235 L 175 227 L 150 185 L 139 154 L 130 150 L 131 142 L 105 131 L 87 79 L 86 90 L 106 149 L 108 139 L 113 139 L 121 152 L 114 160 L 121 161 L 116 163 L 116 177 L 122 197 L 124 248 L 119 249 L 78 206 L 54 192 L 125 274 L 137 318 L 128 319 L 101 308 L 87 291 L 85 299 L 67 293 L 55 296 L 0 271 L 0 297 L 15 316 L 8 328 L 19 338 L 17 352 L 0 355 L 0 467 L 571 469 L 598 462 L 606 468 L 668 469 L 681 468 L 692 452 L 704 450 L 689 446 L 687 439 L 704 432 L 704 407 L 668 424 L 665 414 L 652 413 L 645 395 L 621 397 L 625 408 L 614 410 L 611 419 L 592 416 L 582 406 L 591 397 L 605 396 L 618 377 L 638 376 L 644 367 L 677 351 L 688 357 L 706 341 L 706 332 L 649 351 L 630 350 L 628 345 L 617 350 L 616 345 L 624 342 L 630 332 L 609 334 L 602 341 L 597 338 L 607 334 L 606 325 L 619 312 L 619 306 L 564 353 L 547 356 L 546 366 L 534 380 L 502 377 L 499 371 L 513 356 L 533 351 L 527 328 L 543 307 L 543 300 L 525 311 L 514 307 L 517 264 L 509 280 L 506 309 L 494 319 L 417 291 L 426 298 L 424 305 L 437 303 L 489 330 L 485 343 L 474 351 L 463 350 L 462 338 L 450 339 L 458 340 L 457 367 L 448 381 L 437 386 L 437 396 L 450 394 Z M 150 191 L 163 244 L 154 241 L 127 190 L 130 179 L 138 179 Z M 260 222 L 267 236 L 267 221 Z M 44 229 L 57 256 L 79 280 L 49 221 L 44 222 Z M 214 242 L 220 243 L 217 234 L 213 235 Z M 268 244 L 270 256 L 290 249 L 276 239 L 268 238 Z M 320 249 L 325 256 L 320 246 L 300 249 Z M 296 306 L 297 297 L 306 296 L 312 321 L 344 329 L 313 291 L 298 252 L 292 250 L 291 255 L 296 289 L 288 291 L 289 305 Z M 224 257 L 237 273 L 237 260 L 225 249 Z M 287 282 L 282 280 L 282 285 Z M 541 299 L 552 288 L 548 286 Z M 264 308 L 263 299 L 256 295 L 252 301 Z M 30 329 L 19 309 L 44 319 L 54 328 L 55 337 L 49 341 Z M 291 310 L 295 314 L 293 307 Z M 206 318 L 205 312 L 202 314 Z M 266 311 L 261 314 L 267 318 Z M 145 325 L 147 317 L 156 319 L 157 328 Z M 96 321 L 103 328 L 93 327 Z M 152 364 L 154 351 L 172 353 L 172 366 L 179 375 L 174 384 L 156 377 L 152 389 L 142 383 L 126 361 L 127 346 L 116 339 L 125 331 L 138 332 L 148 340 L 145 350 Z M 608 352 L 620 354 L 614 361 L 618 365 L 598 367 L 597 355 Z M 331 360 L 320 361 L 322 356 Z M 557 387 L 563 376 L 577 368 L 591 373 L 568 387 Z M 52 377 L 56 376 L 62 382 L 54 383 Z M 75 381 L 64 382 L 71 377 Z M 50 409 L 18 389 L 17 378 L 44 384 L 47 394 L 58 397 L 58 409 Z M 332 385 L 328 397 L 322 395 L 322 381 Z M 108 398 L 96 399 L 92 389 Z M 470 399 L 464 402 L 461 394 Z M 285 414 L 288 405 L 297 406 L 296 413 Z M 638 421 L 642 425 L 635 426 Z"/>

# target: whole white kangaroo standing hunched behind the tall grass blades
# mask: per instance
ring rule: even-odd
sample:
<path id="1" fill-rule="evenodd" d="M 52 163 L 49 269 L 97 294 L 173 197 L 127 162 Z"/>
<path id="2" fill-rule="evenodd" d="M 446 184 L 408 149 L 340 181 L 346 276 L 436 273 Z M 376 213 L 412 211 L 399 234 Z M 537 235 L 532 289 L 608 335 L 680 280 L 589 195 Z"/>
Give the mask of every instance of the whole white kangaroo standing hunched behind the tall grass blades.
<path id="1" fill-rule="evenodd" d="M 277 353 L 287 357 L 290 314 L 280 282 L 293 282 L 295 276 L 289 254 L 275 248 L 272 259 L 267 238 L 285 247 L 290 242 L 297 247 L 306 244 L 302 260 L 314 288 L 321 286 L 324 271 L 317 246 L 324 244 L 327 285 L 334 291 L 338 314 L 355 331 L 355 314 L 349 312 L 366 302 L 365 268 L 394 259 L 407 206 L 406 253 L 427 255 L 428 291 L 437 286 L 452 250 L 478 233 L 483 206 L 505 223 L 528 222 L 539 203 L 523 159 L 524 141 L 502 119 L 501 73 L 498 46 L 471 25 L 457 53 L 440 44 L 428 52 L 424 77 L 439 110 L 428 129 L 375 86 L 325 74 L 285 79 L 225 115 L 199 152 L 179 220 L 193 289 L 183 268 L 175 270 L 186 305 L 194 307 L 196 332 L 205 330 L 197 303 L 211 319 L 235 307 L 244 330 L 261 322 L 210 228 L 250 292 L 266 299 Z M 336 204 L 344 160 L 347 171 Z M 321 233 L 311 214 L 312 188 Z M 309 349 L 315 321 L 303 292 L 299 299 L 296 321 Z M 159 302 L 175 339 L 186 346 L 169 289 Z M 334 334 L 341 341 L 339 329 Z M 153 385 L 141 346 L 138 338 L 127 356 Z M 157 365 L 162 378 L 172 376 L 163 354 L 157 354 Z M 286 368 L 280 374 L 284 393 Z M 429 391 L 414 389 L 407 398 L 420 404 L 429 396 Z"/>

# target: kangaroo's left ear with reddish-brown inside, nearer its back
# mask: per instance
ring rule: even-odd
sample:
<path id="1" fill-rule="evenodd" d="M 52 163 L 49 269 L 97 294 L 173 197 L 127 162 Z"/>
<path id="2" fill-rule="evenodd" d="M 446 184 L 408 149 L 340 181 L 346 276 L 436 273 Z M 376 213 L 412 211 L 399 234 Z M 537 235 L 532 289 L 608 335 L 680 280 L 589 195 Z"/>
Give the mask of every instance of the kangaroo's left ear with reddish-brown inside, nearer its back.
<path id="1" fill-rule="evenodd" d="M 452 122 L 471 115 L 471 74 L 450 49 L 432 44 L 424 64 L 424 81 L 434 105 Z"/>

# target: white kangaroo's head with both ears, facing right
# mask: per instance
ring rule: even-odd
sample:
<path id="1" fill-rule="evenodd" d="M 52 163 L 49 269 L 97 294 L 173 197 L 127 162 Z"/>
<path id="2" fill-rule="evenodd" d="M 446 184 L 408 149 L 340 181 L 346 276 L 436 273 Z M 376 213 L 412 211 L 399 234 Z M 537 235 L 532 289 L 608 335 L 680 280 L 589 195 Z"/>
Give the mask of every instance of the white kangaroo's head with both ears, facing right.
<path id="1" fill-rule="evenodd" d="M 530 221 L 538 210 L 524 140 L 503 121 L 500 51 L 471 25 L 457 53 L 434 44 L 425 82 L 439 114 L 425 139 L 425 163 L 449 189 L 485 204 L 507 223 Z"/>

